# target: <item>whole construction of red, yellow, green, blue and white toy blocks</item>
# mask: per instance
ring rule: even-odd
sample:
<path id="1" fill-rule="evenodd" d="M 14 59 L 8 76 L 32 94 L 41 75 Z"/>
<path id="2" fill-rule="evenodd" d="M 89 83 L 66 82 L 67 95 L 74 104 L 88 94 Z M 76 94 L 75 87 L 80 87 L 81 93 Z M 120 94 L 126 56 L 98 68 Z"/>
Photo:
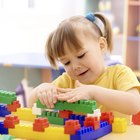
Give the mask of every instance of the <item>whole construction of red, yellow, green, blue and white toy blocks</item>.
<path id="1" fill-rule="evenodd" d="M 124 118 L 114 119 L 112 112 L 101 113 L 93 100 L 58 101 L 53 110 L 37 100 L 30 109 L 20 107 L 14 92 L 1 90 L 0 103 L 0 139 L 95 140 L 112 130 L 126 131 Z"/>

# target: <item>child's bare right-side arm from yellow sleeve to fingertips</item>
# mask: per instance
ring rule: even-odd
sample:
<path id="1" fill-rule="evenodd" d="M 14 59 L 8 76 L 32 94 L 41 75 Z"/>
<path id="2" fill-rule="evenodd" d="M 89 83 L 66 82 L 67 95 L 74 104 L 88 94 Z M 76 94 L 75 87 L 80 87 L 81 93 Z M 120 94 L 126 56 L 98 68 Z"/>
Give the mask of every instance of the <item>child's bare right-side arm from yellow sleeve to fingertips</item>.
<path id="1" fill-rule="evenodd" d="M 59 91 L 66 93 L 57 95 L 58 100 L 75 102 L 81 99 L 94 99 L 107 108 L 121 113 L 136 114 L 140 111 L 140 94 L 136 88 L 125 92 L 95 85 L 82 85 L 71 91 L 65 89 Z"/>

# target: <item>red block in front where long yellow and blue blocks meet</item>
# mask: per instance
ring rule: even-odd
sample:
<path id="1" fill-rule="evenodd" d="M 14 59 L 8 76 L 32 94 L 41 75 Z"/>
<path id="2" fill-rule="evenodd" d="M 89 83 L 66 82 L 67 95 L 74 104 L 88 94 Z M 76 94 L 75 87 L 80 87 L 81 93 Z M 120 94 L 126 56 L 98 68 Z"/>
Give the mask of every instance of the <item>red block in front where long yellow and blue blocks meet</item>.
<path id="1" fill-rule="evenodd" d="M 65 122 L 64 133 L 74 135 L 80 128 L 81 125 L 78 120 L 68 120 Z"/>

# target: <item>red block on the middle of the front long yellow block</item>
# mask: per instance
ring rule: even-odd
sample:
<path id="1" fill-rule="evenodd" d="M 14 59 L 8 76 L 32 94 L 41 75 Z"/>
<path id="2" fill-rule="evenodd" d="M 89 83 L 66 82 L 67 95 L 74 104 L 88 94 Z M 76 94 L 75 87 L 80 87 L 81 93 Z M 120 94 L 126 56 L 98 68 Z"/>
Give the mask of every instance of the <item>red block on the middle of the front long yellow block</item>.
<path id="1" fill-rule="evenodd" d="M 35 122 L 33 123 L 34 131 L 44 132 L 45 128 L 47 127 L 49 127 L 49 122 L 47 118 L 36 118 Z"/>

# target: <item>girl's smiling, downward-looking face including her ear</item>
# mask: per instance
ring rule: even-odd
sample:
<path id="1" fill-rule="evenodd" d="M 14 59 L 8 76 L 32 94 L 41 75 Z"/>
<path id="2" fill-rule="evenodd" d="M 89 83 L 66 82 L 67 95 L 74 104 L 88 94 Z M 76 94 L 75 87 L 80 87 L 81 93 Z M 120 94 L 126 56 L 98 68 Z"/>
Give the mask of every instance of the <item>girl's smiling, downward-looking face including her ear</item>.
<path id="1" fill-rule="evenodd" d="M 66 49 L 66 55 L 60 57 L 60 62 L 72 79 L 84 84 L 90 84 L 105 71 L 103 60 L 105 42 L 102 38 L 94 40 L 83 34 L 79 35 L 79 39 L 82 39 L 83 49 L 78 52 Z"/>

